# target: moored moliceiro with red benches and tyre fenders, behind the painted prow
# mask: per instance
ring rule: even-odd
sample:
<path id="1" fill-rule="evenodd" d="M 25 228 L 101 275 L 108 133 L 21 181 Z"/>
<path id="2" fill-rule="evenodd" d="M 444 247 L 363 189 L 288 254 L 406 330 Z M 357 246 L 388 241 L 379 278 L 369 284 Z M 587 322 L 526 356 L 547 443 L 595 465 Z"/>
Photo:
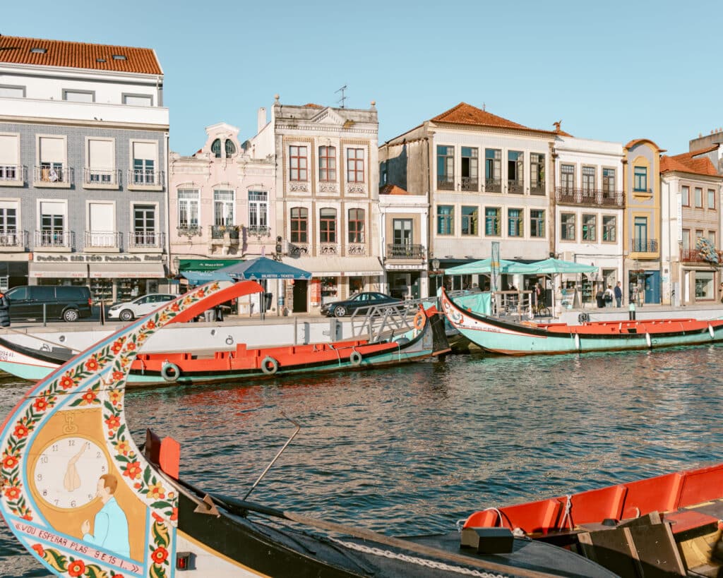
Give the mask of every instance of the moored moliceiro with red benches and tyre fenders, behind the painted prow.
<path id="1" fill-rule="evenodd" d="M 259 291 L 260 285 L 240 281 L 234 288 L 239 295 L 248 295 Z M 267 348 L 247 348 L 239 343 L 224 350 L 138 353 L 127 382 L 129 387 L 234 382 L 397 365 L 448 351 L 444 320 L 436 309 L 429 308 L 417 312 L 411 329 L 373 342 L 357 339 Z M 33 349 L 0 337 L 0 369 L 24 379 L 43 379 L 70 358 L 69 349 Z"/>

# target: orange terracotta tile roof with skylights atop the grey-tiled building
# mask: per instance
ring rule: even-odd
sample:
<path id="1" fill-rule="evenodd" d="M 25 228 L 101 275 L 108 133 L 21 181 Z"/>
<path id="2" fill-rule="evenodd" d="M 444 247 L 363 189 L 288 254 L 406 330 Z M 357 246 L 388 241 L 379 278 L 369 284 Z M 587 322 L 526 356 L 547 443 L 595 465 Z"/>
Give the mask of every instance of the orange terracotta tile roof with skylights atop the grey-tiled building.
<path id="1" fill-rule="evenodd" d="M 33 48 L 41 50 L 33 52 Z M 114 59 L 114 55 L 125 56 L 125 58 Z M 163 74 L 161 64 L 158 63 L 155 52 L 150 48 L 85 44 L 17 36 L 0 36 L 0 62 Z"/>

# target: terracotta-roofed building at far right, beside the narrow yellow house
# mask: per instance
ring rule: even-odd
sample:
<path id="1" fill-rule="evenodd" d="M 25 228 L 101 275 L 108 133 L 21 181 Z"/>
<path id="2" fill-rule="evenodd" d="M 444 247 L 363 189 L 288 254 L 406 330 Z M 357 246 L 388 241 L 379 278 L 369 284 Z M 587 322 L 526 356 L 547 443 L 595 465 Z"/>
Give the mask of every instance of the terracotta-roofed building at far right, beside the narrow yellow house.
<path id="1" fill-rule="evenodd" d="M 709 157 L 718 145 L 660 160 L 662 194 L 662 301 L 712 303 L 719 291 L 720 175 Z"/>

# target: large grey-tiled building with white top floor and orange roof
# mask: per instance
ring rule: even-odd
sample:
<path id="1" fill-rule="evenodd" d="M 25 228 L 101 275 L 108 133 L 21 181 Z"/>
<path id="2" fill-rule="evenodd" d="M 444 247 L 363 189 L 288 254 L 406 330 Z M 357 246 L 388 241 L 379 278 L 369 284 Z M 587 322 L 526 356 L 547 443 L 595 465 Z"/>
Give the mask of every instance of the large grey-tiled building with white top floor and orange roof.
<path id="1" fill-rule="evenodd" d="M 167 150 L 153 50 L 0 36 L 0 287 L 156 290 Z"/>

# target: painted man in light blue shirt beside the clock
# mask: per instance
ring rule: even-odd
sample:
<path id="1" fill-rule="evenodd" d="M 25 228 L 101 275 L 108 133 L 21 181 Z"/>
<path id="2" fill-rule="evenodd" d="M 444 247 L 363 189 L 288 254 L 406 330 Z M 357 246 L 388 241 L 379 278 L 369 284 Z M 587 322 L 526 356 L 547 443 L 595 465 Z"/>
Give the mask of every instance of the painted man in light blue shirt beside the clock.
<path id="1" fill-rule="evenodd" d="M 128 542 L 128 520 L 121 506 L 114 498 L 118 480 L 112 474 L 101 475 L 98 480 L 98 497 L 103 507 L 93 520 L 93 534 L 90 534 L 90 520 L 85 520 L 80 527 L 83 540 L 93 545 L 110 550 L 119 556 L 130 558 Z"/>

